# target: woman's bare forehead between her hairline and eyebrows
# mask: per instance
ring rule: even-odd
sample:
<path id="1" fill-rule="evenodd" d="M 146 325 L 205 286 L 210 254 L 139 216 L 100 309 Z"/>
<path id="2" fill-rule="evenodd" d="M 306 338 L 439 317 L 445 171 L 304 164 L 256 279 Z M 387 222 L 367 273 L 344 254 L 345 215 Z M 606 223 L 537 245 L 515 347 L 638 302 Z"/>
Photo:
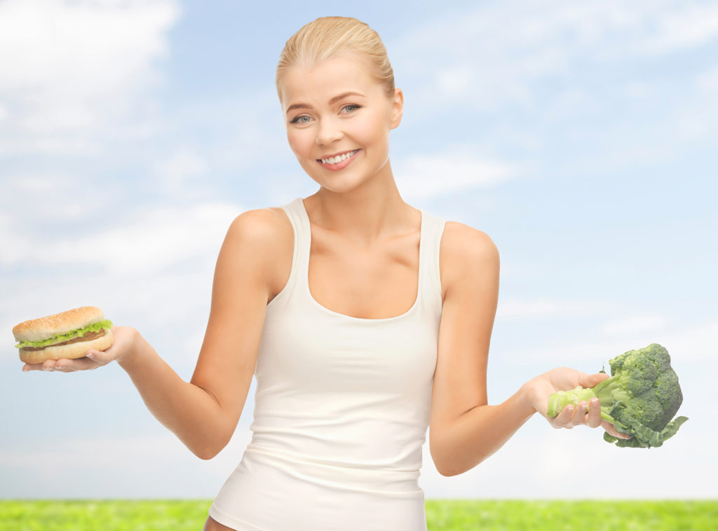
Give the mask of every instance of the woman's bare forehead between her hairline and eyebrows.
<path id="1" fill-rule="evenodd" d="M 282 108 L 293 103 L 320 105 L 347 92 L 374 95 L 381 85 L 357 55 L 337 55 L 312 65 L 294 65 L 279 80 Z"/>

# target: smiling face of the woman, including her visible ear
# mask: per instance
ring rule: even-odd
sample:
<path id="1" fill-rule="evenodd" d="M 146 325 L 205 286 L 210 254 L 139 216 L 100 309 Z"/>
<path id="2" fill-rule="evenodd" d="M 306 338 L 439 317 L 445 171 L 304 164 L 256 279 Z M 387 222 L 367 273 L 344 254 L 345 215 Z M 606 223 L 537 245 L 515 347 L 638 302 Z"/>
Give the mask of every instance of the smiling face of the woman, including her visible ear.
<path id="1" fill-rule="evenodd" d="M 358 55 L 286 70 L 279 85 L 289 146 L 304 171 L 332 192 L 391 175 L 389 131 L 401 122 L 401 90 L 388 98 Z"/>

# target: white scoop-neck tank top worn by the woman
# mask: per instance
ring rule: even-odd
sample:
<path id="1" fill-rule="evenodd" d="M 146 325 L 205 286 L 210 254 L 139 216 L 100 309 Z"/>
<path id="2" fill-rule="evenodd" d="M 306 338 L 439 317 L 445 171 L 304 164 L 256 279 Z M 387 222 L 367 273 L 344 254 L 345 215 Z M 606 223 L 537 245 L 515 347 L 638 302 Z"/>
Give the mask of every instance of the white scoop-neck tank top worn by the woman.
<path id="1" fill-rule="evenodd" d="M 362 319 L 314 300 L 307 210 L 301 197 L 281 208 L 294 227 L 292 271 L 266 307 L 251 442 L 210 516 L 240 531 L 424 531 L 444 220 L 421 210 L 414 306 Z"/>

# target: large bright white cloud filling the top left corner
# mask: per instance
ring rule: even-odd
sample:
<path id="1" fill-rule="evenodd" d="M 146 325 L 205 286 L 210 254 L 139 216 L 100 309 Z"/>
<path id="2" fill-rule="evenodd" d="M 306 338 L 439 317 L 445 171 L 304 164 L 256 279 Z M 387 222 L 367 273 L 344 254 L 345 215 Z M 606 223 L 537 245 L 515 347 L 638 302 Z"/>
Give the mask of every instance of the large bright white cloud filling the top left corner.
<path id="1" fill-rule="evenodd" d="M 0 150 L 86 152 L 161 77 L 172 0 L 0 2 Z M 70 134 L 73 133 L 73 134 Z"/>

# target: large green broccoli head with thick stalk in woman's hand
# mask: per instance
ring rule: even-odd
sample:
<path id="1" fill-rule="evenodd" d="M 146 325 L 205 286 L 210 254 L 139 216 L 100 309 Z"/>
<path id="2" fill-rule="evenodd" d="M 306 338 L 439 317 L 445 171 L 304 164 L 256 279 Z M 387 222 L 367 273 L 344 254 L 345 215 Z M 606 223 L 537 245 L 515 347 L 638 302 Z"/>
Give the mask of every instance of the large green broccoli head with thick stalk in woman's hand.
<path id="1" fill-rule="evenodd" d="M 629 350 L 609 363 L 611 377 L 595 387 L 576 387 L 551 395 L 547 415 L 555 417 L 568 404 L 578 405 L 597 397 L 601 401 L 601 418 L 631 436 L 620 439 L 604 433 L 607 442 L 632 448 L 661 446 L 688 420 L 671 420 L 681 407 L 683 393 L 668 350 L 653 343 Z"/>

